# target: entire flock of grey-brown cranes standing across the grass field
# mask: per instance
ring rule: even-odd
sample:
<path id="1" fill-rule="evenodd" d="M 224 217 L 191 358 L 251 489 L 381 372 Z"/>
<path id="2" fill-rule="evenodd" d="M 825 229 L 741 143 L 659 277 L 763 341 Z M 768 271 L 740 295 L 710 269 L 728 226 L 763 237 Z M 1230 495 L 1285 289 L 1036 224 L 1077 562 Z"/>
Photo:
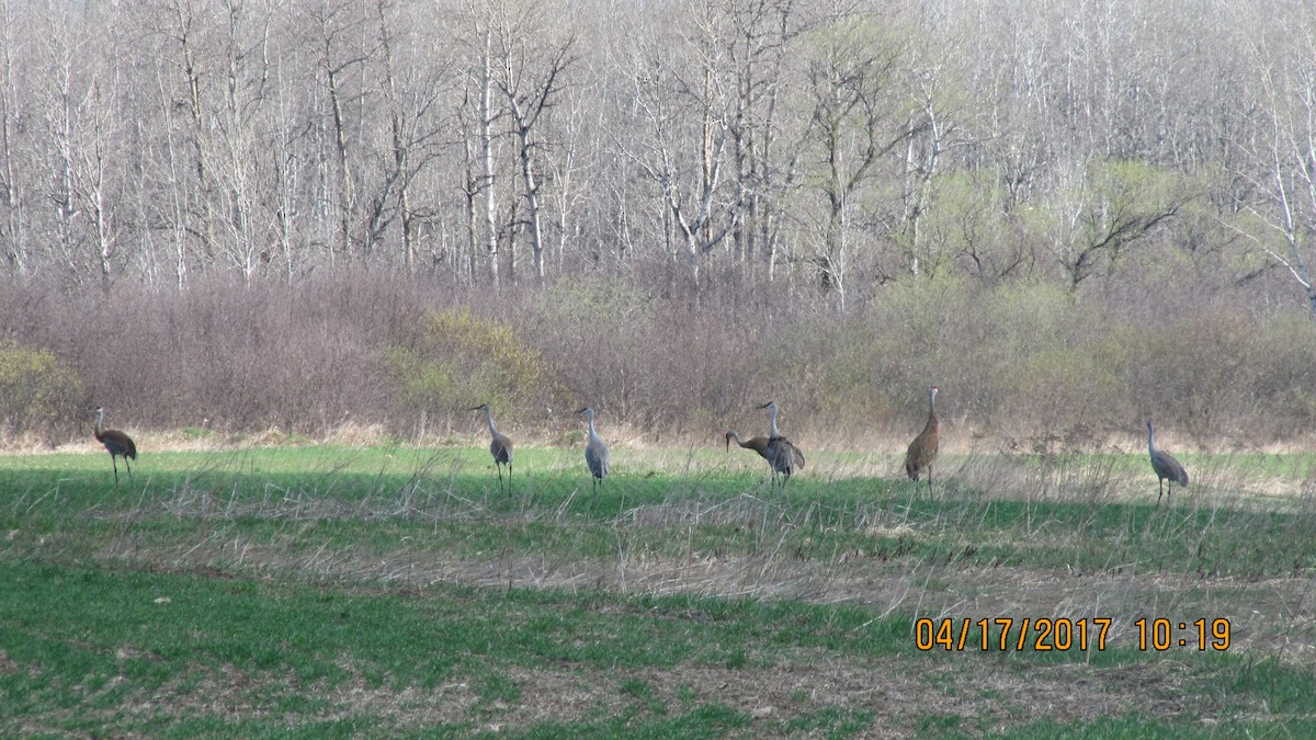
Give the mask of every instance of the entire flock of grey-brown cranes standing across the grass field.
<path id="1" fill-rule="evenodd" d="M 932 386 L 928 391 L 928 421 L 923 427 L 923 432 L 909 442 L 909 449 L 905 452 L 905 474 L 909 479 L 915 482 L 917 487 L 919 479 L 924 471 L 928 473 L 928 495 L 933 496 L 934 491 L 932 487 L 932 463 L 937 460 L 938 450 L 938 424 L 937 424 L 937 386 Z M 765 437 L 750 437 L 747 440 L 741 438 L 740 432 L 730 429 L 726 432 L 726 450 L 730 452 L 732 442 L 737 445 L 754 450 L 759 457 L 767 461 L 769 470 L 772 475 L 774 489 L 780 479 L 782 490 L 786 489 L 786 483 L 790 482 L 791 475 L 796 471 L 804 469 L 804 453 L 800 448 L 795 446 L 782 431 L 776 427 L 778 407 L 776 402 L 767 402 L 758 407 L 767 412 L 769 429 Z M 494 467 L 497 470 L 497 485 L 499 491 L 504 490 L 503 483 L 503 466 L 507 466 L 507 481 L 508 485 L 512 482 L 512 456 L 513 445 L 512 440 L 497 431 L 494 425 L 494 412 L 490 410 L 490 404 L 482 403 L 467 411 L 483 411 L 484 421 L 490 428 L 490 454 L 494 456 Z M 590 469 L 590 475 L 592 477 L 594 490 L 597 490 L 599 485 L 608 475 L 608 463 L 612 460 L 612 453 L 608 449 L 607 442 L 599 436 L 597 429 L 594 425 L 594 408 L 586 407 L 576 412 L 584 416 L 588 441 L 584 448 L 584 462 Z M 109 452 L 111 465 L 114 466 L 114 485 L 118 485 L 118 462 L 117 458 L 124 458 L 124 465 L 128 466 L 128 477 L 133 477 L 133 466 L 130 460 L 137 460 L 137 445 L 133 444 L 132 437 L 120 432 L 118 429 L 105 429 L 105 410 L 104 407 L 96 410 L 96 441 L 105 445 L 105 450 Z M 1148 421 L 1148 453 L 1152 456 L 1152 469 L 1157 475 L 1157 485 L 1159 487 L 1155 504 L 1161 506 L 1161 499 L 1166 495 L 1165 482 L 1170 482 L 1170 494 L 1174 494 L 1174 485 L 1179 486 L 1188 485 L 1188 471 L 1183 469 L 1183 465 L 1174 458 L 1170 453 L 1159 450 L 1155 448 L 1155 436 L 1152 428 L 1152 421 Z M 917 489 L 916 489 L 917 490 Z"/>

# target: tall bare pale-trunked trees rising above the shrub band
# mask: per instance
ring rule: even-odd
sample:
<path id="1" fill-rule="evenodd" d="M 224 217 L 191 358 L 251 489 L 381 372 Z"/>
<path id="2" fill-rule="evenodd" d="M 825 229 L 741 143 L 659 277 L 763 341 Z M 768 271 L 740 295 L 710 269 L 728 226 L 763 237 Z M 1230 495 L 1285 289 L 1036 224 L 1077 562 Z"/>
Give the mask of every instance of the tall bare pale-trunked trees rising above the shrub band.
<path id="1" fill-rule="evenodd" d="M 0 249 L 67 288 L 1173 263 L 1316 311 L 1302 0 L 0 5 Z"/>

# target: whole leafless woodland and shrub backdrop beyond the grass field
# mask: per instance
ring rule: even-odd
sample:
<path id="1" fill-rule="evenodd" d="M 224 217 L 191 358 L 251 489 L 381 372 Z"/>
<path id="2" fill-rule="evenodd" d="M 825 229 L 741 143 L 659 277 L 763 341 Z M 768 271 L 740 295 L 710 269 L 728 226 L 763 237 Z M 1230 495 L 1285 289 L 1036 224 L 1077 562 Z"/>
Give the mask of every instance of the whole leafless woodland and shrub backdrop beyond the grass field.
<path id="1" fill-rule="evenodd" d="M 1303 0 L 0 12 L 11 446 L 1311 441 Z"/>

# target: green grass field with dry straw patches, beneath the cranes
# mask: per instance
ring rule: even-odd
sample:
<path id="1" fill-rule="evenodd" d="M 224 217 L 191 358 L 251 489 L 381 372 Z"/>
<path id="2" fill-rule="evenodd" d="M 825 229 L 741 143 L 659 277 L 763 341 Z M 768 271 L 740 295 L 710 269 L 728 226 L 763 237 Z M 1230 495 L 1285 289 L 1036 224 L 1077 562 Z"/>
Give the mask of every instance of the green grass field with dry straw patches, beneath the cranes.
<path id="1" fill-rule="evenodd" d="M 0 735 L 1316 735 L 1305 456 L 107 457 L 0 457 Z"/>

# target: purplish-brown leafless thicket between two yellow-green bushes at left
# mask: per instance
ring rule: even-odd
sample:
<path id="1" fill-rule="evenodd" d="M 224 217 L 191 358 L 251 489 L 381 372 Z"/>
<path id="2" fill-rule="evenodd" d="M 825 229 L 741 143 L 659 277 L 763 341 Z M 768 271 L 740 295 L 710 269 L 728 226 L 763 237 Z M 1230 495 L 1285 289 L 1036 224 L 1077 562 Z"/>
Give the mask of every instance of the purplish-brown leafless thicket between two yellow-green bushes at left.
<path id="1" fill-rule="evenodd" d="M 55 348 L 91 404 L 125 427 L 324 435 L 387 420 L 383 348 L 416 330 L 422 305 L 405 280 L 350 273 L 296 288 L 11 286 L 0 291 L 0 336 Z"/>

